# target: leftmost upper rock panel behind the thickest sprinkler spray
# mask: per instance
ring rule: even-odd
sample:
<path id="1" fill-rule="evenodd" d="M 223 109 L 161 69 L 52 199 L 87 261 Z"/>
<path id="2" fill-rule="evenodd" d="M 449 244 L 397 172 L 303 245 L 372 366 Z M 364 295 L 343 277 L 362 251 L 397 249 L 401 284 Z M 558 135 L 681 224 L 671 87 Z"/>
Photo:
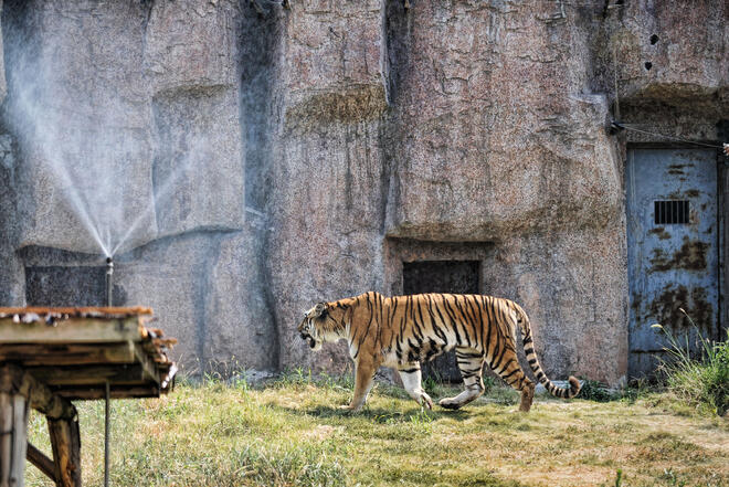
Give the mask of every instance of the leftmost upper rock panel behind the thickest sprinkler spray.
<path id="1" fill-rule="evenodd" d="M 137 218 L 133 241 L 155 234 L 138 70 L 145 20 L 133 2 L 6 2 L 7 126 L 22 153 L 19 246 L 98 252 L 97 241 Z"/>

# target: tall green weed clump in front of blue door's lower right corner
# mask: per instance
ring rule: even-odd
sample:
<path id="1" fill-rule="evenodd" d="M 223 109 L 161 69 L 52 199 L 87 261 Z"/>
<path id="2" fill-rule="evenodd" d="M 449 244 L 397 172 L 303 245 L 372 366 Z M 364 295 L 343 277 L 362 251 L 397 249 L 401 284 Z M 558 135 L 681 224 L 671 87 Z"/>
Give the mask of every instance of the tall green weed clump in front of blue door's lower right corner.
<path id="1" fill-rule="evenodd" d="M 682 311 L 686 314 L 683 309 Z M 690 405 L 709 409 L 722 416 L 729 409 L 729 331 L 727 340 L 710 341 L 704 338 L 696 324 L 686 315 L 696 330 L 700 356 L 691 357 L 688 337 L 685 343 L 661 325 L 670 345 L 664 348 L 667 360 L 661 360 L 661 371 L 667 388 Z"/>

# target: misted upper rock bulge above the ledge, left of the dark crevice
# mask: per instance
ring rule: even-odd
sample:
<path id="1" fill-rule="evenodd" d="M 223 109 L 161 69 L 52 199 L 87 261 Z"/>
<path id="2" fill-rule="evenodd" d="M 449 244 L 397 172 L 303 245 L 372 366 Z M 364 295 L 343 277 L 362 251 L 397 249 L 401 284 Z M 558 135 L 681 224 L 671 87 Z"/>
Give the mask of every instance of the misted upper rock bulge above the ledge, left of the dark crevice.
<path id="1" fill-rule="evenodd" d="M 228 2 L 170 6 L 6 6 L 20 246 L 112 252 L 242 227 L 236 15 Z"/>

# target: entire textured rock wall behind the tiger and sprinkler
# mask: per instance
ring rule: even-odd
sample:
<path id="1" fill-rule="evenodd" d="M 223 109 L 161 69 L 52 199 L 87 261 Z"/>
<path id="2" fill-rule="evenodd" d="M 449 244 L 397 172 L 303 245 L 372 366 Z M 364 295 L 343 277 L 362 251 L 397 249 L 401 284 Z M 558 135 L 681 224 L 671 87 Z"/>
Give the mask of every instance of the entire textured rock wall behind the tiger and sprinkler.
<path id="1" fill-rule="evenodd" d="M 118 298 L 155 307 L 187 366 L 341 370 L 342 346 L 296 336 L 303 310 L 473 260 L 549 374 L 617 382 L 615 86 L 625 121 L 711 139 L 726 6 L 292 3 L 6 0 L 0 300 L 24 304 L 29 269 L 101 265 L 101 226 Z"/>

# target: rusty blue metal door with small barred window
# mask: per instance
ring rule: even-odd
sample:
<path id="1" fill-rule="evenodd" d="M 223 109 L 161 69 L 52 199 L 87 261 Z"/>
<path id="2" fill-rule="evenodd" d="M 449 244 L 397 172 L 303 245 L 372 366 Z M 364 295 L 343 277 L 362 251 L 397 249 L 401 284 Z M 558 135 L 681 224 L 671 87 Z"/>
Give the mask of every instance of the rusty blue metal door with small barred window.
<path id="1" fill-rule="evenodd" d="M 662 324 L 695 350 L 696 331 L 719 331 L 717 153 L 633 149 L 625 168 L 630 286 L 628 374 L 649 375 L 665 357 Z M 682 313 L 684 309 L 686 314 Z"/>

